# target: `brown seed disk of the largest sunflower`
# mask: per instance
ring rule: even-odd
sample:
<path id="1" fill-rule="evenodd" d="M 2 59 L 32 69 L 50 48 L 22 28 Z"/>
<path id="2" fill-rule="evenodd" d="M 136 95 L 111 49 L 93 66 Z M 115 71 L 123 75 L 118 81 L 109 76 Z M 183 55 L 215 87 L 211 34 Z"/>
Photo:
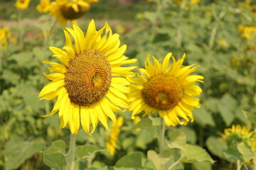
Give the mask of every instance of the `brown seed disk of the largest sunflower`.
<path id="1" fill-rule="evenodd" d="M 84 50 L 76 55 L 65 72 L 65 89 L 70 101 L 90 106 L 107 94 L 111 84 L 110 63 L 102 52 Z"/>

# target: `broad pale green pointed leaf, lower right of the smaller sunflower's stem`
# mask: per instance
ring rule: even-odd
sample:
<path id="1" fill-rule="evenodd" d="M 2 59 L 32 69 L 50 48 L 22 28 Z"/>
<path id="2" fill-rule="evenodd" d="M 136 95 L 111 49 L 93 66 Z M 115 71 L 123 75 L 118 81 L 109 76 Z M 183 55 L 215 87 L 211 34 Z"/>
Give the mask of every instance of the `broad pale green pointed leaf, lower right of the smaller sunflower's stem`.
<path id="1" fill-rule="evenodd" d="M 205 149 L 195 146 L 195 145 L 186 145 L 186 150 L 181 150 L 182 162 L 186 163 L 195 163 L 195 162 L 210 162 L 214 163 L 213 159 L 206 152 Z"/>

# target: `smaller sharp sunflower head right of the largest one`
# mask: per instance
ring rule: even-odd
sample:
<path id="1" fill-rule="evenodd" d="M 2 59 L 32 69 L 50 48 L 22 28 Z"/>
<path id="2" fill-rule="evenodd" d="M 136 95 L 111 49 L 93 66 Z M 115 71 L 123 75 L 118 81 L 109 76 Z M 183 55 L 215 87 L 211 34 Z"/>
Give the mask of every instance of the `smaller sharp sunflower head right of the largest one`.
<path id="1" fill-rule="evenodd" d="M 186 125 L 190 120 L 193 122 L 193 108 L 200 107 L 199 99 L 194 96 L 202 92 L 195 83 L 203 77 L 188 76 L 199 66 L 192 64 L 182 67 L 185 55 L 177 62 L 171 55 L 167 54 L 162 64 L 155 57 L 152 64 L 148 55 L 146 69 L 139 69 L 137 78 L 129 78 L 133 83 L 129 86 L 131 93 L 128 96 L 132 118 L 144 111 L 144 115 L 158 112 L 167 126 Z M 171 66 L 170 58 L 173 59 Z"/>

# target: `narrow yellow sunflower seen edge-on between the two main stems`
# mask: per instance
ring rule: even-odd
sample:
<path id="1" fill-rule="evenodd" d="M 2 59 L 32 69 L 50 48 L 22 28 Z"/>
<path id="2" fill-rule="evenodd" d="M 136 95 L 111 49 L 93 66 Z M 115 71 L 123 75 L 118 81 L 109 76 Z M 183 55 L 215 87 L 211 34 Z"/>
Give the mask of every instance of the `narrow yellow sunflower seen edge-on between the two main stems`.
<path id="1" fill-rule="evenodd" d="M 110 135 L 106 142 L 107 151 L 113 156 L 116 152 L 116 149 L 119 147 L 117 146 L 117 140 L 120 133 L 120 128 L 124 124 L 124 118 L 119 116 L 115 123 L 112 123 L 112 127 L 110 129 Z"/>

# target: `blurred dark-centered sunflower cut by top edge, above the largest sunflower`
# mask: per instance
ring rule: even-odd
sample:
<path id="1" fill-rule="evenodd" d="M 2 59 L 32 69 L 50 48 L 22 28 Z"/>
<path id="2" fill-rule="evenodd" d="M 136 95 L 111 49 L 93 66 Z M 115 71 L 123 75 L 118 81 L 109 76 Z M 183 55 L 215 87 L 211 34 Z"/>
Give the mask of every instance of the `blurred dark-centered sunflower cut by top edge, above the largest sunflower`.
<path id="1" fill-rule="evenodd" d="M 57 21 L 63 26 L 68 21 L 75 23 L 75 20 L 82 17 L 90 9 L 92 0 L 56 0 L 50 4 L 50 15 L 55 16 Z"/>

